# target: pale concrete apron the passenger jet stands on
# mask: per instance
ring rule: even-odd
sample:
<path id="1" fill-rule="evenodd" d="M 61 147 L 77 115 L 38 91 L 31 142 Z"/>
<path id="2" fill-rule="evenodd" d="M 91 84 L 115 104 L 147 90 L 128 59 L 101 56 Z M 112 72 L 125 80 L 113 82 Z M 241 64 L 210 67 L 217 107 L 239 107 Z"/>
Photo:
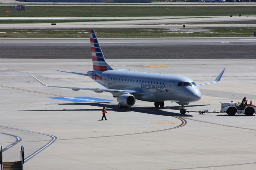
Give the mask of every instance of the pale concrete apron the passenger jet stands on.
<path id="1" fill-rule="evenodd" d="M 243 97 L 255 103 L 255 59 L 107 61 L 116 69 L 180 74 L 196 83 L 214 80 L 226 67 L 220 83 L 201 86 L 202 99 L 186 109 L 218 111 L 220 102 Z M 20 145 L 24 145 L 25 158 L 32 156 L 24 164 L 26 170 L 255 169 L 255 116 L 180 115 L 178 105 L 171 102 L 165 102 L 163 109 L 144 101 L 118 109 L 110 93 L 44 87 L 26 73 L 49 85 L 101 87 L 88 77 L 56 69 L 86 73 L 92 61 L 0 59 L 0 144 L 6 149 L 17 136 L 22 139 L 3 152 L 4 161 L 19 160 Z M 74 103 L 49 98 L 84 96 L 113 101 Z M 107 121 L 99 121 L 103 106 L 109 113 Z"/>

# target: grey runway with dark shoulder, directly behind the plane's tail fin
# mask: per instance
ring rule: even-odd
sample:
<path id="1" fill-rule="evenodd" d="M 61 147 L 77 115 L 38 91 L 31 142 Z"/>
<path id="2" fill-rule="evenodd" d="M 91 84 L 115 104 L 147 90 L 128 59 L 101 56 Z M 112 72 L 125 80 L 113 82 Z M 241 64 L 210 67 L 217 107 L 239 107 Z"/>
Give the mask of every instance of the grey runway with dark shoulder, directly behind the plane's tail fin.
<path id="1" fill-rule="evenodd" d="M 255 59 L 256 39 L 99 38 L 106 59 Z M 0 58 L 90 59 L 90 40 L 0 39 Z M 122 54 L 122 55 L 120 55 Z"/>

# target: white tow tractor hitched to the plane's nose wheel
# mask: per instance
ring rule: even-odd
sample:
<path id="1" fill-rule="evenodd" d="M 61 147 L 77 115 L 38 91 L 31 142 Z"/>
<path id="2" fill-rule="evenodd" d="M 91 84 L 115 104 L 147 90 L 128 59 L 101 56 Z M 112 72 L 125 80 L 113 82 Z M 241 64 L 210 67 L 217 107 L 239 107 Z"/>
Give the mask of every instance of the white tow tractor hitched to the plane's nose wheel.
<path id="1" fill-rule="evenodd" d="M 238 114 L 245 114 L 247 116 L 252 116 L 256 113 L 256 107 L 254 105 L 241 106 L 237 103 L 221 103 L 220 113 L 227 113 L 230 116 Z"/>

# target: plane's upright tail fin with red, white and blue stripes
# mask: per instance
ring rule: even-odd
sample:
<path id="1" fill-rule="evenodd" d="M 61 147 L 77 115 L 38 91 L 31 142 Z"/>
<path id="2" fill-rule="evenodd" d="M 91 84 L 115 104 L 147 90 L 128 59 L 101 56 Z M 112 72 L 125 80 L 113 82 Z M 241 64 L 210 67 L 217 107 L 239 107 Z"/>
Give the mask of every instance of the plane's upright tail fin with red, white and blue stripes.
<path id="1" fill-rule="evenodd" d="M 94 71 L 106 71 L 112 70 L 112 68 L 106 63 L 100 44 L 94 30 L 90 30 L 90 42 L 92 51 L 92 64 Z"/>

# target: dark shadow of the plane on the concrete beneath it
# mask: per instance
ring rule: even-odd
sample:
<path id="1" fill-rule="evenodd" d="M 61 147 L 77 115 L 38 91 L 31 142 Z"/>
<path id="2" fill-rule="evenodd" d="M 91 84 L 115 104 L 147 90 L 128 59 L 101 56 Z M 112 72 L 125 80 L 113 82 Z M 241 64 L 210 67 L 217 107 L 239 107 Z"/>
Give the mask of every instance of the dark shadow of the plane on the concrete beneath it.
<path id="1" fill-rule="evenodd" d="M 89 105 L 95 107 L 106 107 L 107 111 L 114 112 L 130 112 L 136 111 L 139 113 L 146 113 L 151 115 L 162 115 L 162 116 L 178 116 L 178 117 L 193 117 L 189 114 L 180 114 L 164 111 L 162 109 L 172 109 L 172 110 L 180 110 L 180 106 L 174 107 L 164 107 L 164 108 L 155 108 L 155 107 L 129 107 L 127 109 L 120 109 L 118 105 L 110 105 L 108 102 L 98 102 L 98 103 L 52 103 L 52 104 L 44 104 L 44 105 Z M 206 105 L 190 105 L 186 107 L 195 107 L 195 106 L 206 106 Z M 22 111 L 99 111 L 102 109 L 52 109 L 52 110 L 22 110 Z"/>

